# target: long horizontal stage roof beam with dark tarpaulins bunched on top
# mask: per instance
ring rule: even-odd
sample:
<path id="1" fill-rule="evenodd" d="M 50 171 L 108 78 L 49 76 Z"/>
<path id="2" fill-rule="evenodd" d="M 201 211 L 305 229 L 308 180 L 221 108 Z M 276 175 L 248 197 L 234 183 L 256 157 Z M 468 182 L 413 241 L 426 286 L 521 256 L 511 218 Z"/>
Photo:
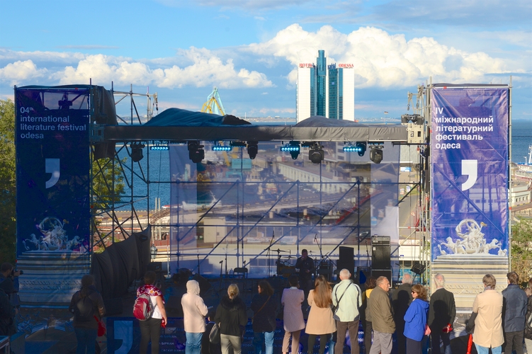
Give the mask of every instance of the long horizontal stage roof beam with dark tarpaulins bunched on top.
<path id="1" fill-rule="evenodd" d="M 402 125 L 361 124 L 314 116 L 297 125 L 255 125 L 233 115 L 214 115 L 169 108 L 143 125 L 106 125 L 107 142 L 133 140 L 407 142 Z"/>

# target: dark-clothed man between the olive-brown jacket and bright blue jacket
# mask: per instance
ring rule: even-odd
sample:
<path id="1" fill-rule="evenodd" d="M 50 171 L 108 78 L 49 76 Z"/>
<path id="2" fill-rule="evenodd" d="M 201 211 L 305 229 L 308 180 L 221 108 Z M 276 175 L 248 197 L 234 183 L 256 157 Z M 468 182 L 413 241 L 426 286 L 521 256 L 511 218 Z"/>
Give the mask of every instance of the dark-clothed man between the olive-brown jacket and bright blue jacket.
<path id="1" fill-rule="evenodd" d="M 404 314 L 412 302 L 412 275 L 404 273 L 402 284 L 392 294 L 393 319 L 397 331 L 397 353 L 407 353 L 407 338 L 404 336 Z"/>

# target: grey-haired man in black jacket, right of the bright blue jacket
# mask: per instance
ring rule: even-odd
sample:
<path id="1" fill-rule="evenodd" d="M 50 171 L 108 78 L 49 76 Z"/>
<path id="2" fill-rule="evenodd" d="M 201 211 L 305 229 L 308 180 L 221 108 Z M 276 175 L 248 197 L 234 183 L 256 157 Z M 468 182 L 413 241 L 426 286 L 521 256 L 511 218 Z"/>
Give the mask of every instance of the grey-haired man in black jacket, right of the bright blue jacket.
<path id="1" fill-rule="evenodd" d="M 456 316 L 456 306 L 452 292 L 444 289 L 443 274 L 434 275 L 436 290 L 431 295 L 429 305 L 429 328 L 431 329 L 431 347 L 433 354 L 440 353 L 440 338 L 445 354 L 451 354 L 451 330 Z"/>

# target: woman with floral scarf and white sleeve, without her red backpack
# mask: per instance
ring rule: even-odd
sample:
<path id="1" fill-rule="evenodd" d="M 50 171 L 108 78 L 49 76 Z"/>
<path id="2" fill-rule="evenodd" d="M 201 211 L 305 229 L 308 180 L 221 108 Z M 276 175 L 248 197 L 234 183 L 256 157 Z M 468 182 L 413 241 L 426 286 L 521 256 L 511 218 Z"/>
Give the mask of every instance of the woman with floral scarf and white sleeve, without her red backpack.
<path id="1" fill-rule="evenodd" d="M 162 292 L 154 286 L 157 275 L 154 271 L 149 270 L 144 275 L 144 284 L 137 289 L 137 297 L 140 295 L 149 295 L 149 303 L 153 308 L 152 316 L 145 320 L 139 321 L 140 325 L 140 350 L 139 353 L 145 354 L 148 343 L 152 341 L 152 354 L 159 354 L 159 338 L 161 337 L 161 327 L 166 326 L 166 310 Z"/>

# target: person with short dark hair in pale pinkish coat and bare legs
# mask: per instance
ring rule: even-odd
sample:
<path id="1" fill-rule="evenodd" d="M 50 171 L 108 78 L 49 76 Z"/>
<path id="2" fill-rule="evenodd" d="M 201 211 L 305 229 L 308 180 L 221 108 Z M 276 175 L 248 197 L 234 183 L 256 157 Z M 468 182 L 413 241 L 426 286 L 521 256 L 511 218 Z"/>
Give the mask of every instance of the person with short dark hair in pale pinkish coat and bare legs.
<path id="1" fill-rule="evenodd" d="M 299 338 L 301 330 L 305 328 L 305 319 L 301 311 L 301 304 L 305 300 L 305 293 L 299 289 L 298 275 L 290 275 L 288 278 L 290 287 L 283 290 L 281 304 L 283 305 L 283 326 L 285 336 L 283 338 L 283 354 L 288 354 L 290 337 L 292 337 L 292 354 L 299 353 Z"/>

